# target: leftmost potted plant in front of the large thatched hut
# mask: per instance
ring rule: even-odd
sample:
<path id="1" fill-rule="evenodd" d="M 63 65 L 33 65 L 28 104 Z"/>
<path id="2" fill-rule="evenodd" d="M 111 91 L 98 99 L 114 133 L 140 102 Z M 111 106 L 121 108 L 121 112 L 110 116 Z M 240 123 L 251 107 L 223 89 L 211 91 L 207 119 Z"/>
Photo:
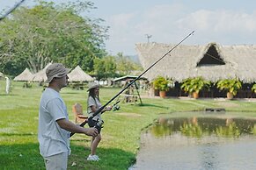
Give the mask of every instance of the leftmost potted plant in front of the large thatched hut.
<path id="1" fill-rule="evenodd" d="M 159 90 L 159 96 L 164 98 L 166 96 L 166 91 L 170 89 L 169 81 L 163 76 L 158 76 L 157 79 L 153 81 L 155 89 Z"/>

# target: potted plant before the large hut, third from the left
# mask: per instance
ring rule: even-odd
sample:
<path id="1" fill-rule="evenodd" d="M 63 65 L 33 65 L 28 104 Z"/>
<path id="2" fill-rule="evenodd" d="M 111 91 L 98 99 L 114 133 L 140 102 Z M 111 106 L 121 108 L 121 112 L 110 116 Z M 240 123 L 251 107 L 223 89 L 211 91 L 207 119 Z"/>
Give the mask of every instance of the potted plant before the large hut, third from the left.
<path id="1" fill-rule="evenodd" d="M 238 89 L 242 88 L 242 83 L 238 79 L 224 79 L 217 82 L 217 88 L 227 90 L 227 98 L 232 99 L 237 95 Z"/>

